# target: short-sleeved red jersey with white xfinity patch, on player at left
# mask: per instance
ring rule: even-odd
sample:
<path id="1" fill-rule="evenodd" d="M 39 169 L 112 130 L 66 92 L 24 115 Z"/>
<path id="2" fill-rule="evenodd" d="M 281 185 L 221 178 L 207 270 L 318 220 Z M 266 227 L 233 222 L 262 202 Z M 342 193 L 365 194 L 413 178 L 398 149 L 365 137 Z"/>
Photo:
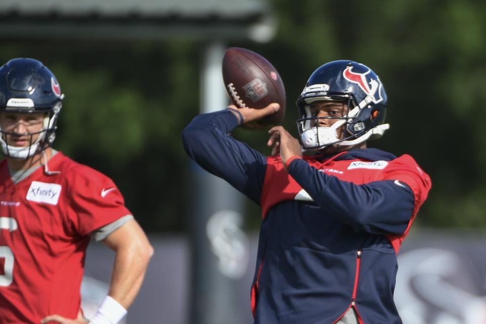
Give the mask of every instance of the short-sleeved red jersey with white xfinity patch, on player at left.
<path id="1" fill-rule="evenodd" d="M 130 215 L 111 179 L 61 152 L 12 182 L 0 161 L 0 323 L 75 318 L 90 233 Z"/>

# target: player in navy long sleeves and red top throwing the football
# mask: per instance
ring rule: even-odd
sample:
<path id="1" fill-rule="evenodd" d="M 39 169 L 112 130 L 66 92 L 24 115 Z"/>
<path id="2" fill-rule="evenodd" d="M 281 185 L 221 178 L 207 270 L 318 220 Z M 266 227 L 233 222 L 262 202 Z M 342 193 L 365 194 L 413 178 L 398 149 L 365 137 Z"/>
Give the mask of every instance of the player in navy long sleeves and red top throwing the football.
<path id="1" fill-rule="evenodd" d="M 367 148 L 388 129 L 386 93 L 369 67 L 320 66 L 297 107 L 300 142 L 274 127 L 271 156 L 230 133 L 278 104 L 200 114 L 182 133 L 191 158 L 262 207 L 255 324 L 399 324 L 396 254 L 430 178 L 410 155 Z"/>

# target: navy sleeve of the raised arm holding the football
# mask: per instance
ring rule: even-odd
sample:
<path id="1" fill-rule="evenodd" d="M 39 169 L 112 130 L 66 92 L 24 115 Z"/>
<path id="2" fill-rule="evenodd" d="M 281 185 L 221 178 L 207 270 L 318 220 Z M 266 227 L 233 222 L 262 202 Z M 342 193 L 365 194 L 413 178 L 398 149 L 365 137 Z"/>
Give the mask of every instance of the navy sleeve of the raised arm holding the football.
<path id="1" fill-rule="evenodd" d="M 199 166 L 260 204 L 267 159 L 228 135 L 238 125 L 230 110 L 200 114 L 182 132 L 182 142 Z"/>

